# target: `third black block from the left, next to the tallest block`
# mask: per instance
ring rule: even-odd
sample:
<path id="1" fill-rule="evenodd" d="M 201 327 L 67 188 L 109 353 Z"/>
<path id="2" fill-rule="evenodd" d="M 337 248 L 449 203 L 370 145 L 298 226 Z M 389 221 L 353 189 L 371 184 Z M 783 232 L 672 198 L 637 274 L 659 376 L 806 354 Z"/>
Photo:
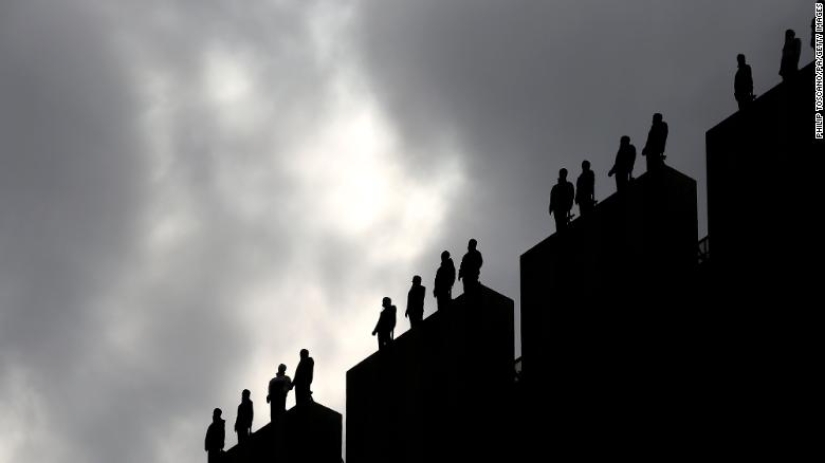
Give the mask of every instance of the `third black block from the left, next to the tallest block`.
<path id="1" fill-rule="evenodd" d="M 662 166 L 521 256 L 520 422 L 546 423 L 520 431 L 528 454 L 547 436 L 576 458 L 684 436 L 672 417 L 696 399 L 681 391 L 679 320 L 697 227 L 696 182 Z"/>

